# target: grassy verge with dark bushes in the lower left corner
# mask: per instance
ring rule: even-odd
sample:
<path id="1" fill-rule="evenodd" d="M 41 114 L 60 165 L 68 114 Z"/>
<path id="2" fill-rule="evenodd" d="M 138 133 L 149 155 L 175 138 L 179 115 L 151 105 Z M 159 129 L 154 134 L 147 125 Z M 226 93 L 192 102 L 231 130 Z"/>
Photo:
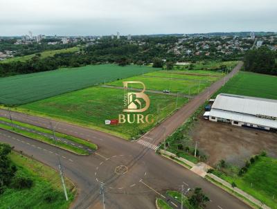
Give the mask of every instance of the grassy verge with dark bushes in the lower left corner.
<path id="1" fill-rule="evenodd" d="M 59 174 L 31 158 L 0 144 L 0 208 L 66 209 L 75 198 L 75 187 L 65 179 L 64 198 Z"/>

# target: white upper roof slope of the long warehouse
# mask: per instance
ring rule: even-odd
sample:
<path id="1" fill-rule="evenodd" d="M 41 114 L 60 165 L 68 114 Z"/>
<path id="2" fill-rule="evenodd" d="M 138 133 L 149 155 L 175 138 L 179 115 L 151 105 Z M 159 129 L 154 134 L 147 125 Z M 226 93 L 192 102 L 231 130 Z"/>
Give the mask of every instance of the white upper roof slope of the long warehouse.
<path id="1" fill-rule="evenodd" d="M 277 118 L 277 100 L 249 96 L 220 93 L 217 95 L 212 109 L 260 116 L 261 118 L 265 118 L 265 116 Z M 277 120 L 275 121 L 277 122 Z"/>

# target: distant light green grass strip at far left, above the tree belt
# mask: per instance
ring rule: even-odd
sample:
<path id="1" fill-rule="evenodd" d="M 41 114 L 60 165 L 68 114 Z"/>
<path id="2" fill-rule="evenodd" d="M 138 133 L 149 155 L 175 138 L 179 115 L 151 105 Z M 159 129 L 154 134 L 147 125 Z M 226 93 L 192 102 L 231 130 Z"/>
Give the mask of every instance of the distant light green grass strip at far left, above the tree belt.
<path id="1" fill-rule="evenodd" d="M 80 48 L 74 46 L 71 48 L 63 48 L 63 49 L 57 49 L 57 50 L 49 50 L 49 51 L 43 51 L 41 54 L 41 58 L 45 57 L 53 57 L 55 54 L 60 54 L 60 53 L 72 53 L 75 51 L 79 51 Z M 26 62 L 27 60 L 32 59 L 32 57 L 35 57 L 37 53 L 32 54 L 32 55 L 26 55 L 23 57 L 12 57 L 7 60 L 0 61 L 0 63 L 9 63 L 9 62 Z"/>

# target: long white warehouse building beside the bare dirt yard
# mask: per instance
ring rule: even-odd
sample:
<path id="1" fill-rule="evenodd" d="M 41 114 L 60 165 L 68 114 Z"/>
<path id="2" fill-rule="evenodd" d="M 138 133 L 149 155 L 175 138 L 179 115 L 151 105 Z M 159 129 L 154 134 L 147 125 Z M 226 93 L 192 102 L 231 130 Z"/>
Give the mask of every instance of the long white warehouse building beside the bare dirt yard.
<path id="1" fill-rule="evenodd" d="M 220 93 L 204 117 L 215 122 L 277 131 L 277 100 Z"/>

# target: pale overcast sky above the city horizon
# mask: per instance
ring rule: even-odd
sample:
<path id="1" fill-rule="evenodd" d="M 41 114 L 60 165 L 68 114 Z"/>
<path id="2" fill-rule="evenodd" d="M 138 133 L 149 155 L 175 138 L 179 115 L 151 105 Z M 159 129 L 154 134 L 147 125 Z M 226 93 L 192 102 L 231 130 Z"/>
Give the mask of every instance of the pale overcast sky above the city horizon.
<path id="1" fill-rule="evenodd" d="M 0 0 L 0 36 L 277 31 L 276 0 Z"/>

